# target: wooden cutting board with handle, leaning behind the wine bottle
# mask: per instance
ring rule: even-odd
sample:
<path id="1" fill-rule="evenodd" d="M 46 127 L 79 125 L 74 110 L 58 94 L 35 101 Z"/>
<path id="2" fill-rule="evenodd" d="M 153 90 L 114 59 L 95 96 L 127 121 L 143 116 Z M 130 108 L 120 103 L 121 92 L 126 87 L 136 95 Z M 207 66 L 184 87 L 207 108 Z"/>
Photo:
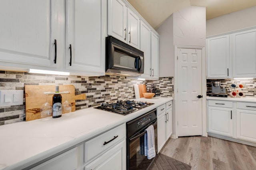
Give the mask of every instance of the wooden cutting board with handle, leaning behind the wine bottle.
<path id="1" fill-rule="evenodd" d="M 69 92 L 68 94 L 62 94 L 62 103 L 67 100 L 71 103 L 71 111 L 76 110 L 76 100 L 85 100 L 85 94 L 75 95 L 74 85 L 60 85 L 60 92 Z M 55 92 L 55 85 L 50 86 L 37 86 L 26 85 L 25 86 L 25 98 L 26 98 L 26 121 L 40 119 L 40 108 L 47 102 L 52 105 L 52 96 L 46 95 L 44 92 Z"/>

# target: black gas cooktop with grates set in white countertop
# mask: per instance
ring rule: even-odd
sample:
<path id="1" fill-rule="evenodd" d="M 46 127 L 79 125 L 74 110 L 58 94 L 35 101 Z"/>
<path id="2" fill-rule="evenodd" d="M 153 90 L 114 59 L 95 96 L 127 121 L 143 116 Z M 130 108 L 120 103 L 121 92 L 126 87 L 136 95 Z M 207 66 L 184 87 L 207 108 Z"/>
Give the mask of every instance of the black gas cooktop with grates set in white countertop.
<path id="1" fill-rule="evenodd" d="M 96 109 L 101 109 L 105 111 L 110 111 L 113 113 L 118 113 L 121 115 L 127 115 L 144 107 L 148 107 L 153 103 L 148 102 L 136 102 L 134 100 L 118 100 L 115 103 L 102 103 L 100 106 L 94 107 Z"/>

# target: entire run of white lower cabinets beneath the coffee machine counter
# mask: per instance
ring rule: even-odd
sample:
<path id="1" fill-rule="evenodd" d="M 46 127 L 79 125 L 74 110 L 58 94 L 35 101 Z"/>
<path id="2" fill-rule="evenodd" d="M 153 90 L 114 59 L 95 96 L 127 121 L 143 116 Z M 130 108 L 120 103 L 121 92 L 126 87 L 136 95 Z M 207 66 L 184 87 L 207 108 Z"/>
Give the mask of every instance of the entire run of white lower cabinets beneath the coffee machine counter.
<path id="1" fill-rule="evenodd" d="M 208 133 L 248 145 L 256 143 L 256 103 L 208 100 Z"/>

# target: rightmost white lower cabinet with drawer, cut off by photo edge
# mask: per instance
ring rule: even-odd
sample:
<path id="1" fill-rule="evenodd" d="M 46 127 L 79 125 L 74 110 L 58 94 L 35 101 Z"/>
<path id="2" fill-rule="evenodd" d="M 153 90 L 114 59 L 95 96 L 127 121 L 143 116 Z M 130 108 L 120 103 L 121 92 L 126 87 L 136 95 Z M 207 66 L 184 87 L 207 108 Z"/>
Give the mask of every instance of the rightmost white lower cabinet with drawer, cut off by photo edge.
<path id="1" fill-rule="evenodd" d="M 256 142 L 256 104 L 237 102 L 236 137 L 246 141 Z"/>

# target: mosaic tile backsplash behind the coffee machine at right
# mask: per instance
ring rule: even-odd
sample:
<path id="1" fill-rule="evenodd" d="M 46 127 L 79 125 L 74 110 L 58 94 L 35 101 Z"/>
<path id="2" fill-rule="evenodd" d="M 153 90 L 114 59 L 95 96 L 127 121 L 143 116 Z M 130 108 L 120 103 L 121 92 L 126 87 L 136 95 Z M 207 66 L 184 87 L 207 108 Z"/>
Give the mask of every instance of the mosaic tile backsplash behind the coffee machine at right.
<path id="1" fill-rule="evenodd" d="M 243 97 L 256 97 L 256 79 L 207 79 L 207 93 L 212 92 L 212 82 L 220 82 L 220 86 L 229 88 L 231 84 L 242 84 L 244 87 L 241 89 L 244 94 Z"/>

